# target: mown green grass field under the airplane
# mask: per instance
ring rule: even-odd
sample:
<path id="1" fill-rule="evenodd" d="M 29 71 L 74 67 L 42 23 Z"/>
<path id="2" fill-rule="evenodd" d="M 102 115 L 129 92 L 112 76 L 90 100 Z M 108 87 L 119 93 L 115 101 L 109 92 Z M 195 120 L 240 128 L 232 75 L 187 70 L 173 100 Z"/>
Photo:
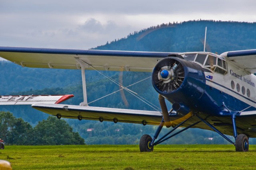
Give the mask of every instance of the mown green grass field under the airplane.
<path id="1" fill-rule="evenodd" d="M 256 169 L 256 146 L 235 152 L 232 145 L 6 146 L 0 159 L 13 170 L 249 170 Z"/>

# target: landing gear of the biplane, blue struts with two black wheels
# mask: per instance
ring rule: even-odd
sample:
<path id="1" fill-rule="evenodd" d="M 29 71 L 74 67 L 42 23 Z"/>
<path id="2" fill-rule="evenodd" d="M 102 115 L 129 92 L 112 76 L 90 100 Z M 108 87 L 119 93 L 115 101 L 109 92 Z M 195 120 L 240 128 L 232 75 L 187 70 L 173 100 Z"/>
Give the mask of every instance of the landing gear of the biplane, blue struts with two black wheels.
<path id="1" fill-rule="evenodd" d="M 176 120 L 175 127 L 173 126 L 173 129 L 170 130 L 170 132 L 168 132 L 167 134 L 162 136 L 162 138 L 160 138 L 157 141 L 155 141 L 158 138 L 158 135 L 160 134 L 160 132 L 162 130 L 162 127 L 164 125 L 166 127 L 172 126 L 172 122 L 170 121 L 170 115 L 173 114 L 172 111 L 170 111 L 168 113 L 166 104 L 164 102 L 164 98 L 162 96 L 160 96 L 160 95 L 159 95 L 159 102 L 160 102 L 160 106 L 161 106 L 162 114 L 163 114 L 162 122 L 158 126 L 158 129 L 156 130 L 156 133 L 154 134 L 154 138 L 153 139 L 149 135 L 147 135 L 147 134 L 144 134 L 140 138 L 140 152 L 151 152 L 151 151 L 153 151 L 155 145 L 160 144 L 160 143 L 162 143 L 162 142 L 164 142 L 164 141 L 166 141 L 166 140 L 176 136 L 177 134 L 187 130 L 188 128 L 191 128 L 192 126 L 195 126 L 196 124 L 198 124 L 200 122 L 203 122 L 204 124 L 206 124 L 207 126 L 212 128 L 212 130 L 214 130 L 215 132 L 220 134 L 220 136 L 222 136 L 228 142 L 233 144 L 236 147 L 236 152 L 247 152 L 249 150 L 248 137 L 245 134 L 239 134 L 238 135 L 238 133 L 237 133 L 236 116 L 239 116 L 240 112 L 231 112 L 230 110 L 228 110 L 228 108 L 225 106 L 224 103 L 223 103 L 223 106 L 226 107 L 226 109 L 230 112 L 230 116 L 232 118 L 234 138 L 236 140 L 235 143 L 232 140 L 230 140 L 226 135 L 224 135 L 222 132 L 220 132 L 214 125 L 210 124 L 206 120 L 206 118 L 203 119 L 198 114 L 193 115 L 192 112 L 189 112 L 188 114 L 186 114 L 182 118 L 177 119 L 179 121 Z M 190 124 L 189 126 L 186 126 L 186 128 L 182 128 L 178 132 L 172 134 L 172 132 L 174 132 L 174 130 L 176 130 L 177 128 L 182 126 L 186 121 L 188 121 L 193 116 L 196 116 L 199 121 L 198 122 L 194 122 L 193 121 L 194 122 L 193 124 Z M 180 122 L 180 123 L 177 123 L 177 122 Z"/>

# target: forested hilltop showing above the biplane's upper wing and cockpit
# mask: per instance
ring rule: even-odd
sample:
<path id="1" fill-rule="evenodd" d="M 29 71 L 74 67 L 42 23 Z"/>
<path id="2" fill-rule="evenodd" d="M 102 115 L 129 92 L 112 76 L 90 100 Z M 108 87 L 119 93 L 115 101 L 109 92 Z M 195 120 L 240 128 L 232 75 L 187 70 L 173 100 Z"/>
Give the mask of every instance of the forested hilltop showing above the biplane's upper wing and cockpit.
<path id="1" fill-rule="evenodd" d="M 203 51 L 206 26 L 206 51 L 208 52 L 221 54 L 226 51 L 256 48 L 256 22 L 199 20 L 152 26 L 94 49 L 159 52 Z"/>

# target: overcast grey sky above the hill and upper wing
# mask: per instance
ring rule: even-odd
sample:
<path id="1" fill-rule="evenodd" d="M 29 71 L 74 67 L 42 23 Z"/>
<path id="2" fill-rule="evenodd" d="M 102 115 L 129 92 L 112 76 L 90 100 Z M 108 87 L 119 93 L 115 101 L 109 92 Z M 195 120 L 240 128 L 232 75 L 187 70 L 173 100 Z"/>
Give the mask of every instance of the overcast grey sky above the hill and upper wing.
<path id="1" fill-rule="evenodd" d="M 168 22 L 256 22 L 256 0 L 0 0 L 0 46 L 89 49 Z"/>

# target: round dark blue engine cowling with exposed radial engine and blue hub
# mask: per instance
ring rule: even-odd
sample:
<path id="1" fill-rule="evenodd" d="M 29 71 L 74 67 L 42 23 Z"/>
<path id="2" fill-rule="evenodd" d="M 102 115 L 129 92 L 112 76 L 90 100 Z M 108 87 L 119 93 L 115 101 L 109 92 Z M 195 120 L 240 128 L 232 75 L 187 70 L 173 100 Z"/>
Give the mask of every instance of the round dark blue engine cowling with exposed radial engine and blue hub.
<path id="1" fill-rule="evenodd" d="M 199 64 L 167 57 L 154 67 L 152 84 L 171 103 L 179 103 L 190 110 L 196 107 L 196 101 L 204 94 L 206 80 Z"/>

